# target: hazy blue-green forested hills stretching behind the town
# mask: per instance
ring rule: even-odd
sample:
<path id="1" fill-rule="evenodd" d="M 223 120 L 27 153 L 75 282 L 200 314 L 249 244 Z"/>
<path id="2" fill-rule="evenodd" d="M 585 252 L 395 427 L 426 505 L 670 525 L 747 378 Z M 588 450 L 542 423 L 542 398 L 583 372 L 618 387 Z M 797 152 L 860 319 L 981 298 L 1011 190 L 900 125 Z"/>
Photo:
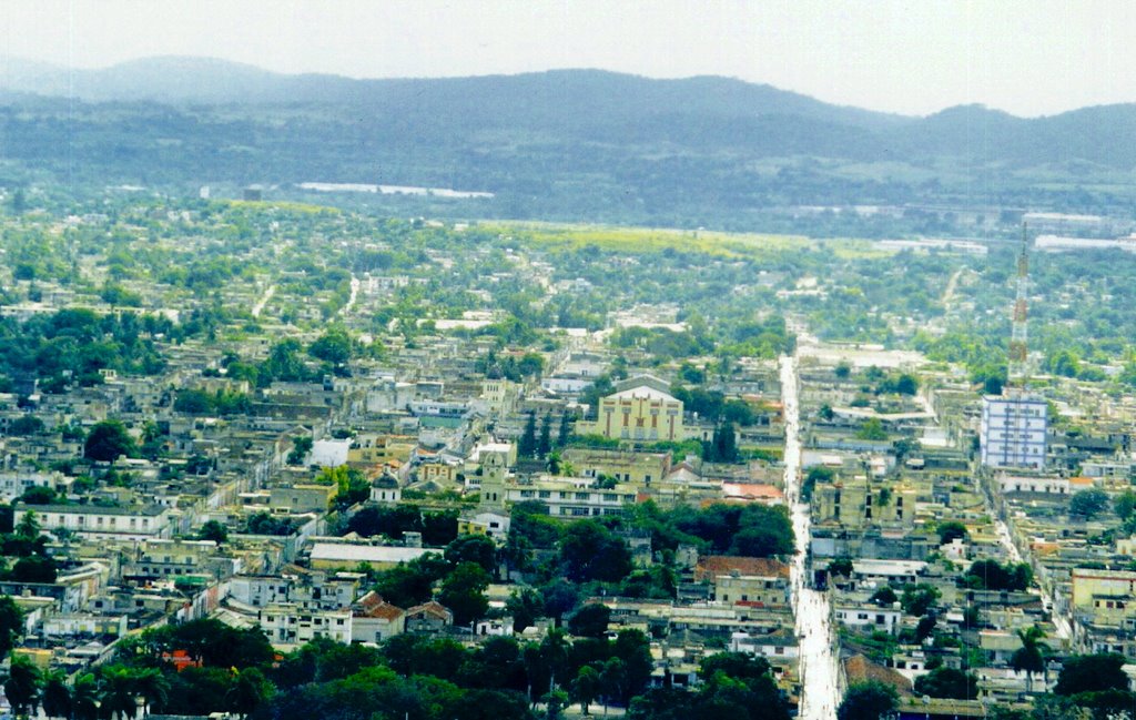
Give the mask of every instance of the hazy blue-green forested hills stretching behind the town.
<path id="1" fill-rule="evenodd" d="M 1136 199 L 1136 104 L 920 118 L 721 77 L 351 79 L 200 58 L 8 60 L 0 101 L 9 184 L 382 183 L 496 194 L 468 215 L 717 227 L 801 204 L 1108 212 Z"/>

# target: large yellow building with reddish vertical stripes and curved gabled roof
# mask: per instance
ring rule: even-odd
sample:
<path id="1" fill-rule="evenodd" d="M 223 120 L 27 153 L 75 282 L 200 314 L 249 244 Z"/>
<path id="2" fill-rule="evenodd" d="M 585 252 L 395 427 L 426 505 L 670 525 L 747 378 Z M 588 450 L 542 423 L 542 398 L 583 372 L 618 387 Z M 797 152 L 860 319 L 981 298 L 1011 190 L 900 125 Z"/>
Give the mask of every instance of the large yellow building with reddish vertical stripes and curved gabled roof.
<path id="1" fill-rule="evenodd" d="M 582 429 L 610 438 L 646 442 L 686 437 L 683 402 L 650 385 L 608 395 L 600 401 L 595 422 Z"/>

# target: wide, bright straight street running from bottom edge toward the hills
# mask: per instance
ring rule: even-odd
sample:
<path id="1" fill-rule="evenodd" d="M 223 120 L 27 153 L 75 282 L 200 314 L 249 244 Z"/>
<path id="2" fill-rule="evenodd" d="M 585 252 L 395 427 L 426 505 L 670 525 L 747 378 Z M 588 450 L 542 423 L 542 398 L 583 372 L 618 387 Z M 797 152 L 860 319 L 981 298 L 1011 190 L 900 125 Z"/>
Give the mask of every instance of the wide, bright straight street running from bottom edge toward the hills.
<path id="1" fill-rule="evenodd" d="M 796 359 L 782 358 L 782 402 L 785 407 L 785 500 L 793 514 L 796 555 L 791 572 L 793 611 L 801 638 L 802 720 L 832 720 L 840 705 L 836 688 L 835 634 L 828 596 L 809 587 L 805 556 L 809 549 L 809 505 L 801 502 L 800 409 L 796 399 Z"/>

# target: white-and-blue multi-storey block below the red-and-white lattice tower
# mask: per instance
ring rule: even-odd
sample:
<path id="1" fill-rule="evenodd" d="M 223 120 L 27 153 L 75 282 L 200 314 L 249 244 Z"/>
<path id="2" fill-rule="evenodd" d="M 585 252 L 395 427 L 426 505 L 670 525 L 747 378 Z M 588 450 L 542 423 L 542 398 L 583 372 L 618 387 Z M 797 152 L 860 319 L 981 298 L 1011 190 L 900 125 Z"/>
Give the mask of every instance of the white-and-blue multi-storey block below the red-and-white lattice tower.
<path id="1" fill-rule="evenodd" d="M 1047 410 L 1041 397 L 983 397 L 983 464 L 987 468 L 1044 469 Z"/>

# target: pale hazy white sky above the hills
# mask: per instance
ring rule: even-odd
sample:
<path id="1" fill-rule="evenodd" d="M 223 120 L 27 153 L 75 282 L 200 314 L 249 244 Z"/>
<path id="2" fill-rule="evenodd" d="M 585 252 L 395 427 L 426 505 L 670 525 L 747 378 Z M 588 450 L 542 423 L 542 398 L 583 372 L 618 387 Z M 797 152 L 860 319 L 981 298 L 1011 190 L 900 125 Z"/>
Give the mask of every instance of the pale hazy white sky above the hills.
<path id="1" fill-rule="evenodd" d="M 353 77 L 713 74 L 877 110 L 1033 116 L 1136 101 L 1136 1 L 0 0 L 0 62 L 153 55 Z"/>

